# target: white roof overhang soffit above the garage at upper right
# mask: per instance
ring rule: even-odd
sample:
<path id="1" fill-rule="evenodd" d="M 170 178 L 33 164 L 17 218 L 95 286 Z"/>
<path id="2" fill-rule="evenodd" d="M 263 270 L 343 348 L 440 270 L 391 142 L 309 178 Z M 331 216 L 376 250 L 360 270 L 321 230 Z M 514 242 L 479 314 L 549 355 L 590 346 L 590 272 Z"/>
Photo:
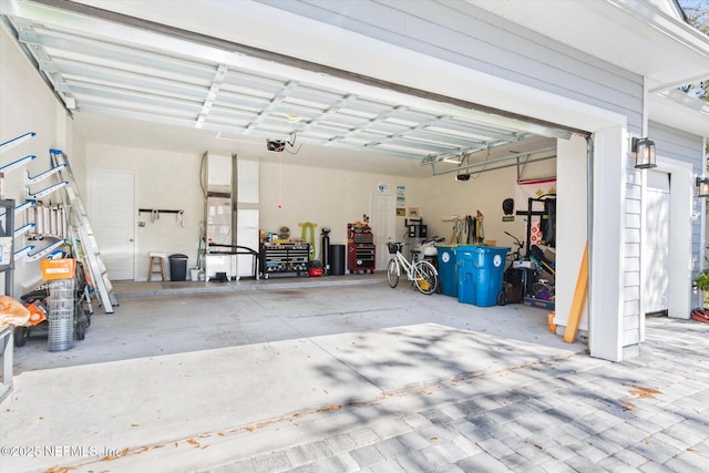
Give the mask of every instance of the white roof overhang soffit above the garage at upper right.
<path id="1" fill-rule="evenodd" d="M 709 35 L 687 24 L 674 1 L 467 2 L 643 75 L 649 120 L 709 136 L 707 104 L 676 92 L 709 79 Z"/>

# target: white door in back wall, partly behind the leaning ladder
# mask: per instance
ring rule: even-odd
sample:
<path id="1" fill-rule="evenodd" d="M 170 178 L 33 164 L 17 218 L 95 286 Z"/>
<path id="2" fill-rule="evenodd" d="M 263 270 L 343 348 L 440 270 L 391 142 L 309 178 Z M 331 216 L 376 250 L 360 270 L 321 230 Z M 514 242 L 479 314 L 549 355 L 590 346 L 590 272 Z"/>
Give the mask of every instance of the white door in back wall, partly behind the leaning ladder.
<path id="1" fill-rule="evenodd" d="M 89 218 L 111 280 L 135 279 L 135 175 L 89 172 Z"/>

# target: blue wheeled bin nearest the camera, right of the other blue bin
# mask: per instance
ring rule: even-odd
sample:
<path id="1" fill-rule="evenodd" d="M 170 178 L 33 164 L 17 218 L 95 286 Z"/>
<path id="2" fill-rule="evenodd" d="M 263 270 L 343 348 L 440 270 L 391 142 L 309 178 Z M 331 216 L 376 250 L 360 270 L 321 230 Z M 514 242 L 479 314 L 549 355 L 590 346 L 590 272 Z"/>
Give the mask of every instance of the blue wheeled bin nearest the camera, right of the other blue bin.
<path id="1" fill-rule="evenodd" d="M 477 307 L 497 305 L 510 248 L 496 246 L 459 246 L 458 301 Z"/>

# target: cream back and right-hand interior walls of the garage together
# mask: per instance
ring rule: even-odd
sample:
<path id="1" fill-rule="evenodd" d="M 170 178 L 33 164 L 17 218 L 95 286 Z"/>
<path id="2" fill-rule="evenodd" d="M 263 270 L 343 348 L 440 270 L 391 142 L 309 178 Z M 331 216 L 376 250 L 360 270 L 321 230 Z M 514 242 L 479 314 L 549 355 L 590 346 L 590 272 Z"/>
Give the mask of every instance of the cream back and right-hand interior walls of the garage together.
<path id="1" fill-rule="evenodd" d="M 121 169 L 136 174 L 138 208 L 185 209 L 187 224 L 184 228 L 172 216 L 163 216 L 155 223 L 151 222 L 147 214 L 138 216 L 138 222 L 144 222 L 145 227 L 136 229 L 136 279 L 145 280 L 147 277 L 148 251 L 185 254 L 189 257 L 187 266 L 194 267 L 199 223 L 204 219 L 199 188 L 202 156 L 97 143 L 89 143 L 85 154 L 90 168 Z M 260 229 L 277 233 L 280 227 L 287 226 L 291 238 L 297 239 L 302 235 L 298 223 L 316 223 L 318 255 L 319 228 L 331 228 L 331 244 L 347 244 L 347 224 L 370 215 L 371 195 L 378 193 L 380 184 L 388 185 L 392 194 L 395 194 L 397 186 L 405 187 L 405 218 L 410 217 L 411 207 L 418 207 L 424 224 L 429 226 L 429 236 L 448 239 L 452 224 L 443 219 L 451 215 L 474 215 L 480 209 L 485 215 L 486 239 L 496 240 L 499 246 L 511 246 L 512 238 L 504 234 L 505 230 L 521 240 L 526 237 L 523 216 L 515 216 L 513 223 L 502 222 L 502 200 L 514 197 L 516 167 L 473 174 L 470 181 L 458 182 L 454 173 L 427 178 L 394 177 L 301 165 L 297 157 L 287 155 L 280 160 L 281 164 L 278 155 L 260 158 Z M 549 160 L 530 164 L 524 168 L 522 177 L 555 175 L 556 161 Z M 404 217 L 397 217 L 395 232 L 392 238 L 403 238 Z"/>

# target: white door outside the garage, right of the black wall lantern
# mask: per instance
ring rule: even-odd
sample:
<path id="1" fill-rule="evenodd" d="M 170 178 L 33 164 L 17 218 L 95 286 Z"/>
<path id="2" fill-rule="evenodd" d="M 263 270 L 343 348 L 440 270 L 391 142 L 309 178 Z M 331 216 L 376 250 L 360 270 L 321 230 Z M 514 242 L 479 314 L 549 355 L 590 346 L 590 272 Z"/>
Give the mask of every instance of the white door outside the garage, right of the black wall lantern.
<path id="1" fill-rule="evenodd" d="M 670 174 L 648 171 L 646 198 L 645 313 L 654 313 L 669 307 Z"/>

